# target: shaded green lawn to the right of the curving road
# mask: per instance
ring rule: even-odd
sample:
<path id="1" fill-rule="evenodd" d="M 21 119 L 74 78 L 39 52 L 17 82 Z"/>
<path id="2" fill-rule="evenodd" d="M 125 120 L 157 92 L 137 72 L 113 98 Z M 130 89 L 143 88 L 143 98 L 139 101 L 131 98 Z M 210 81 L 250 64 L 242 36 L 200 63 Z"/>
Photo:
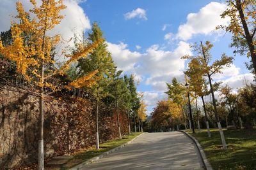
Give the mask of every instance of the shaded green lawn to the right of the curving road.
<path id="1" fill-rule="evenodd" d="M 207 159 L 213 169 L 256 169 L 256 129 L 223 129 L 228 150 L 221 149 L 220 132 L 211 129 L 212 137 L 207 137 L 207 130 L 202 132 L 187 131 L 204 148 Z"/>

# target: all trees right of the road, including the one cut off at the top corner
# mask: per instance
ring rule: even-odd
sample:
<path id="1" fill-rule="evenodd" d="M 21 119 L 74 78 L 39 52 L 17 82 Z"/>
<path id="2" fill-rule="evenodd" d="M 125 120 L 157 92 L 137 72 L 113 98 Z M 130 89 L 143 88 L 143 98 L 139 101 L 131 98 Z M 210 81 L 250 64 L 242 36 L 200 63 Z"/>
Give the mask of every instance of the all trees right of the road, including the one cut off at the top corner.
<path id="1" fill-rule="evenodd" d="M 236 48 L 234 53 L 240 53 L 241 55 L 247 53 L 247 56 L 250 57 L 251 62 L 247 63 L 246 66 L 252 71 L 252 73 L 255 74 L 256 53 L 254 36 L 256 32 L 256 1 L 228 0 L 226 3 L 227 10 L 222 13 L 221 17 L 230 18 L 230 23 L 229 25 L 218 25 L 216 26 L 216 29 L 225 29 L 225 31 L 232 33 L 233 36 L 231 46 Z M 212 61 L 210 53 L 212 44 L 209 41 L 206 41 L 205 45 L 203 45 L 202 41 L 199 45 L 195 43 L 193 46 L 191 46 L 191 48 L 193 48 L 195 55 L 186 55 L 182 57 L 182 59 L 189 60 L 189 68 L 184 72 L 186 74 L 186 81 L 189 83 L 189 88 L 186 89 L 184 85 L 177 83 L 176 79 L 173 79 L 172 84 L 167 83 L 168 92 L 166 93 L 169 97 L 168 100 L 175 102 L 181 110 L 180 117 L 182 119 L 178 117 L 177 129 L 179 129 L 179 124 L 182 122 L 182 120 L 184 121 L 185 128 L 187 128 L 186 117 L 188 118 L 188 116 L 185 117 L 186 114 L 184 114 L 184 104 L 187 103 L 186 97 L 184 96 L 186 96 L 187 91 L 190 92 L 195 99 L 198 129 L 200 129 L 200 117 L 198 115 L 199 111 L 197 106 L 197 98 L 200 97 L 202 99 L 204 121 L 208 129 L 209 137 L 211 137 L 211 133 L 209 131 L 208 115 L 211 117 L 211 113 L 213 113 L 213 125 L 218 125 L 223 148 L 227 149 L 225 137 L 221 130 L 221 118 L 223 118 L 222 115 L 224 115 L 226 125 L 230 124 L 231 121 L 236 127 L 242 127 L 242 117 L 244 127 L 251 128 L 252 123 L 255 122 L 255 106 L 252 104 L 253 101 L 255 101 L 255 96 L 253 96 L 255 93 L 255 85 L 246 84 L 246 86 L 239 89 L 237 93 L 234 93 L 234 90 L 227 85 L 220 89 L 220 82 L 212 83 L 212 75 L 221 73 L 221 69 L 223 67 L 230 66 L 233 58 L 228 57 L 225 55 L 225 53 L 223 53 L 220 60 Z M 217 90 L 220 90 L 221 94 L 219 101 L 217 101 L 216 97 L 214 96 L 214 92 Z M 211 103 L 205 103 L 204 97 L 208 95 L 211 95 Z M 161 104 L 163 104 L 163 101 L 159 102 L 157 107 Z M 153 111 L 153 118 L 157 113 L 157 107 Z M 173 108 L 173 110 L 176 109 Z M 172 113 L 172 111 L 169 112 Z M 175 111 L 173 111 L 173 115 L 174 114 L 176 114 Z M 191 120 L 189 118 L 188 120 L 190 127 Z M 172 119 L 170 121 L 172 121 Z M 239 122 L 239 125 L 237 122 Z"/>

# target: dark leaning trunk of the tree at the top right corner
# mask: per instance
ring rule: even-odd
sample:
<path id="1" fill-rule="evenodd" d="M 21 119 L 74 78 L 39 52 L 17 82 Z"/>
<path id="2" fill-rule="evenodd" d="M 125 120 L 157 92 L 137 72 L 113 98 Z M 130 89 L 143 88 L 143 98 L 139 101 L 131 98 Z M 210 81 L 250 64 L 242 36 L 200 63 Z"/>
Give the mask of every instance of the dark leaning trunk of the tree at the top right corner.
<path id="1" fill-rule="evenodd" d="M 253 36 L 254 35 L 253 34 L 251 35 L 250 31 L 248 29 L 248 25 L 244 18 L 243 8 L 241 6 L 241 0 L 236 0 L 236 8 L 239 12 L 239 17 L 243 24 L 246 43 L 248 44 L 248 47 L 250 50 L 250 55 L 251 55 L 251 59 L 252 59 L 253 69 L 254 69 L 253 73 L 256 74 L 256 54 L 255 54 L 255 46 L 253 45 Z"/>

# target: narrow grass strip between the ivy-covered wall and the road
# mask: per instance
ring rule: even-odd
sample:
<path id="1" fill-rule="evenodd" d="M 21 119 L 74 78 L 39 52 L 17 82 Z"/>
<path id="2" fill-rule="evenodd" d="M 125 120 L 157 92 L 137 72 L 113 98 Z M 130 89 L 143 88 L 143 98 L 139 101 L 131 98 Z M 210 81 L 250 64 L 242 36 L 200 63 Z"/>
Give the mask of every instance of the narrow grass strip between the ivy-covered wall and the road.
<path id="1" fill-rule="evenodd" d="M 131 139 L 135 138 L 136 136 L 140 135 L 141 132 L 132 133 L 131 136 L 124 136 L 122 137 L 122 140 L 113 140 L 108 141 L 106 143 L 100 144 L 100 149 L 95 150 L 95 146 L 91 149 L 87 150 L 81 150 L 80 152 L 76 152 L 72 154 L 73 159 L 67 162 L 67 164 L 64 164 L 61 167 L 45 167 L 45 169 L 68 169 L 70 167 L 76 166 L 77 164 L 80 164 L 88 159 L 92 159 L 93 157 L 96 157 L 104 152 L 107 152 L 108 150 L 111 150 L 113 148 L 116 148 L 117 146 L 120 146 L 124 143 L 127 143 L 127 141 L 131 141 Z"/>

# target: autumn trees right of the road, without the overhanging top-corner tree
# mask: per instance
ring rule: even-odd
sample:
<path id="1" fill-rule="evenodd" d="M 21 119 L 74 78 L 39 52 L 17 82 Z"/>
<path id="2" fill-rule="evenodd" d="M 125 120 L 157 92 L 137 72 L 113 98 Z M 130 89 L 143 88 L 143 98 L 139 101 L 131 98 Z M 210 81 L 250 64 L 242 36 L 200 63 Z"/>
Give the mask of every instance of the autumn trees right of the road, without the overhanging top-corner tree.
<path id="1" fill-rule="evenodd" d="M 223 148 L 227 149 L 222 125 L 226 127 L 233 125 L 236 128 L 250 129 L 255 125 L 256 107 L 255 85 L 245 84 L 245 87 L 235 91 L 228 85 L 221 85 L 220 81 L 212 80 L 214 74 L 221 74 L 223 67 L 232 64 L 232 57 L 223 53 L 220 60 L 212 60 L 209 41 L 203 45 L 194 44 L 191 46 L 195 55 L 186 55 L 182 59 L 189 60 L 188 69 L 184 71 L 186 77 L 186 87 L 173 78 L 172 83 L 166 83 L 168 99 L 159 101 L 152 112 L 153 129 L 191 129 L 191 117 L 189 117 L 189 103 L 192 104 L 192 120 L 197 120 L 197 127 L 207 127 L 208 136 L 211 137 L 210 126 L 218 127 L 220 131 Z M 214 83 L 213 83 L 214 82 Z M 216 99 L 218 94 L 218 100 Z M 192 98 L 188 101 L 188 95 Z M 205 102 L 205 97 L 210 96 L 211 101 Z M 202 106 L 198 106 L 198 98 L 202 101 Z M 202 108 L 202 109 L 200 109 Z M 202 114 L 202 111 L 204 113 Z M 204 121 L 203 121 L 204 118 Z M 183 124 L 183 125 L 182 125 Z M 193 124 L 192 124 L 193 126 Z M 202 126 L 201 126 L 202 127 Z"/>

